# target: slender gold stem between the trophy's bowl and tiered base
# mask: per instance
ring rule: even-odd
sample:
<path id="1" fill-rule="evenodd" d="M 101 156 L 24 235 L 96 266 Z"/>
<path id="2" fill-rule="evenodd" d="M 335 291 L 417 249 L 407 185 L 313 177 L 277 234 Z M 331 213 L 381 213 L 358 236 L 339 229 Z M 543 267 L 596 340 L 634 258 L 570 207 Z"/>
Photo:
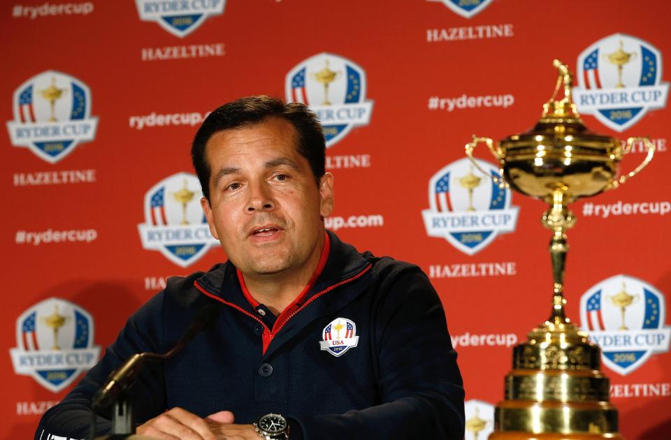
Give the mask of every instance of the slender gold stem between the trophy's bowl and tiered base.
<path id="1" fill-rule="evenodd" d="M 549 322 L 554 324 L 568 323 L 564 312 L 566 300 L 563 294 L 566 253 L 569 249 L 565 231 L 573 227 L 575 216 L 566 207 L 565 191 L 565 187 L 553 191 L 552 207 L 543 214 L 543 225 L 554 231 L 549 246 L 554 278 L 554 298 Z"/>

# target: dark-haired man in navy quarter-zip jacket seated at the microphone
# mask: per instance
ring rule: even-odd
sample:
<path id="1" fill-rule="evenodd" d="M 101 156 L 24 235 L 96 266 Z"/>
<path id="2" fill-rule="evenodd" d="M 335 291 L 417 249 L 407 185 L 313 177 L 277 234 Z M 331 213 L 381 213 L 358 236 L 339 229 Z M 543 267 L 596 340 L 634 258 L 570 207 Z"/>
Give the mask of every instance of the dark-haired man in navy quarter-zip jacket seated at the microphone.
<path id="1" fill-rule="evenodd" d="M 157 439 L 462 439 L 463 386 L 440 299 L 417 266 L 324 230 L 333 176 L 304 105 L 266 96 L 212 112 L 192 156 L 210 231 L 229 261 L 170 279 L 96 367 L 41 420 L 88 434 L 92 396 L 134 353 L 165 353 L 131 390 L 138 434 Z M 98 434 L 110 431 L 98 416 Z"/>

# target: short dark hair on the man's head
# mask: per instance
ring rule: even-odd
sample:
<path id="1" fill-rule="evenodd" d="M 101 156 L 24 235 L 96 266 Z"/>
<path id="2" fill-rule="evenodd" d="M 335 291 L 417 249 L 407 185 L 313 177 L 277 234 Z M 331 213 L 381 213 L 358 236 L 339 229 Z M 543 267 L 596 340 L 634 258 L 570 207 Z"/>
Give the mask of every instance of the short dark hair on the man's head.
<path id="1" fill-rule="evenodd" d="M 203 196 L 210 200 L 210 175 L 212 170 L 205 159 L 205 145 L 215 133 L 239 129 L 264 122 L 270 117 L 284 119 L 296 129 L 296 150 L 310 164 L 317 186 L 326 170 L 326 142 L 322 125 L 315 113 L 301 103 L 284 103 L 270 96 L 247 96 L 217 108 L 205 118 L 198 129 L 191 149 L 196 175 L 203 188 Z"/>

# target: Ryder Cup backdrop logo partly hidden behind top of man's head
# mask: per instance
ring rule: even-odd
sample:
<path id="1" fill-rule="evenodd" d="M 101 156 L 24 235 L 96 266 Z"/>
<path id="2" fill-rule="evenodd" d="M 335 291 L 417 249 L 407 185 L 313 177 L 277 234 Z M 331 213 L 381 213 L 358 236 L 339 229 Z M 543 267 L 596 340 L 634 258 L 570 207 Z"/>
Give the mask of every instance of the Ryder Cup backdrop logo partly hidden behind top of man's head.
<path id="1" fill-rule="evenodd" d="M 354 61 L 326 52 L 301 61 L 285 81 L 287 101 L 303 103 L 322 122 L 326 147 L 355 126 L 368 125 L 373 101 L 366 101 L 366 72 Z"/>

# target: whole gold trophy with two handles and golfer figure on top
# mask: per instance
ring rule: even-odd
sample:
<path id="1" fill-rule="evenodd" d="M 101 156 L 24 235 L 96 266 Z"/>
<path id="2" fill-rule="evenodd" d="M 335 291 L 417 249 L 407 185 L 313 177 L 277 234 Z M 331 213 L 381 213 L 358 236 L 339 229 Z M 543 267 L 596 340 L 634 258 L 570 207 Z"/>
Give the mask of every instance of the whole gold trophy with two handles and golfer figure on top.
<path id="1" fill-rule="evenodd" d="M 505 378 L 505 399 L 496 406 L 490 440 L 622 439 L 617 410 L 609 402 L 609 381 L 600 372 L 600 349 L 564 312 L 566 231 L 575 223 L 567 205 L 623 184 L 647 166 L 655 147 L 644 138 L 628 138 L 623 145 L 588 131 L 573 103 L 572 73 L 557 59 L 554 66 L 559 71 L 554 94 L 531 131 L 511 135 L 498 145 L 491 138 L 473 136 L 466 145 L 475 167 L 489 175 L 472 155 L 479 142 L 486 143 L 503 176 L 492 177 L 494 182 L 549 203 L 542 223 L 553 233 L 552 311 L 528 334 L 528 342 L 514 347 L 513 369 Z M 562 85 L 563 97 L 555 99 Z M 646 145 L 646 158 L 635 170 L 618 176 L 619 161 L 637 140 Z"/>

